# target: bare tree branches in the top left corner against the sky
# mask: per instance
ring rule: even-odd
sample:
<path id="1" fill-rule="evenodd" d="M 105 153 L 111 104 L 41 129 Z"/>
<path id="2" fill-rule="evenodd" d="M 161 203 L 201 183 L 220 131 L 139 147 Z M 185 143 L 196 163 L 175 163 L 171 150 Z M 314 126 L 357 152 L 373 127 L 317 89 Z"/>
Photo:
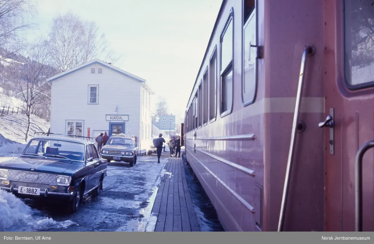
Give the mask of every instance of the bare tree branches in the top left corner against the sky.
<path id="1" fill-rule="evenodd" d="M 23 32 L 34 27 L 31 19 L 35 6 L 34 0 L 0 0 L 0 47 L 8 51 L 0 59 L 18 51 L 24 43 Z"/>

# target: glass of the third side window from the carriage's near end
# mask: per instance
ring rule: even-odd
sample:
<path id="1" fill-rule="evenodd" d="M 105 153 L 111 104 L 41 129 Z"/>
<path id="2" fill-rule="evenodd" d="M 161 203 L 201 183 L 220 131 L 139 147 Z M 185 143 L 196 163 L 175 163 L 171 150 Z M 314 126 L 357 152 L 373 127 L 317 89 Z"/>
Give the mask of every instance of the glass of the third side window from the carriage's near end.
<path id="1" fill-rule="evenodd" d="M 209 66 L 209 119 L 212 121 L 217 113 L 217 50 L 214 51 Z"/>

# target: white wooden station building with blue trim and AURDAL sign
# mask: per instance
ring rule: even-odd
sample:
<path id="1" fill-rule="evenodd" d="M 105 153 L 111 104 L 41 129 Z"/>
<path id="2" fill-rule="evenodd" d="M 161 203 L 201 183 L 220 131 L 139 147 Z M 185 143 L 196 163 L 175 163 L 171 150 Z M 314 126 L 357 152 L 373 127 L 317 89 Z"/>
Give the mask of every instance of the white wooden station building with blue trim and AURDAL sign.
<path id="1" fill-rule="evenodd" d="M 51 132 L 93 138 L 104 132 L 134 135 L 145 153 L 153 92 L 144 79 L 94 59 L 47 81 L 52 87 Z"/>

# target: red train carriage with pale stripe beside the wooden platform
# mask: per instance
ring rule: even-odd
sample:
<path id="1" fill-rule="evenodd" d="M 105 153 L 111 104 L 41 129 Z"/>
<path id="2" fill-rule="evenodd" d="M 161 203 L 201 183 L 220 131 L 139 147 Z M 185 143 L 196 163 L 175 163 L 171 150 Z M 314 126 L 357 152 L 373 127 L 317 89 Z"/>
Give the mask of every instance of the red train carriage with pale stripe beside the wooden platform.
<path id="1" fill-rule="evenodd" d="M 374 230 L 372 1 L 223 1 L 184 139 L 226 231 Z"/>

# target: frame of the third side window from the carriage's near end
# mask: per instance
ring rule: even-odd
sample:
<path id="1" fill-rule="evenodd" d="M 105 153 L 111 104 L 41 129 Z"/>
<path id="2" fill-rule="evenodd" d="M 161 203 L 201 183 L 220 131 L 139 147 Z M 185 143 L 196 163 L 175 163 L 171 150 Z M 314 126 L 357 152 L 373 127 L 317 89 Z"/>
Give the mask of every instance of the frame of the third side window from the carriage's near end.
<path id="1" fill-rule="evenodd" d="M 214 75 L 212 74 L 212 61 L 215 61 L 215 73 Z M 213 52 L 212 52 L 212 55 L 210 56 L 210 59 L 209 59 L 209 82 L 208 82 L 208 90 L 209 90 L 209 96 L 208 96 L 208 100 L 209 100 L 209 109 L 208 109 L 208 113 L 209 113 L 209 121 L 212 123 L 214 121 L 216 121 L 217 119 L 217 68 L 218 68 L 218 58 L 217 58 L 217 45 L 214 46 L 214 49 L 213 49 Z M 211 85 L 213 84 L 212 82 L 212 79 L 213 77 L 215 78 L 215 82 L 214 82 L 214 102 L 212 103 L 212 89 L 211 89 Z M 214 106 L 214 116 L 211 116 L 211 109 L 212 109 L 212 106 Z"/>

